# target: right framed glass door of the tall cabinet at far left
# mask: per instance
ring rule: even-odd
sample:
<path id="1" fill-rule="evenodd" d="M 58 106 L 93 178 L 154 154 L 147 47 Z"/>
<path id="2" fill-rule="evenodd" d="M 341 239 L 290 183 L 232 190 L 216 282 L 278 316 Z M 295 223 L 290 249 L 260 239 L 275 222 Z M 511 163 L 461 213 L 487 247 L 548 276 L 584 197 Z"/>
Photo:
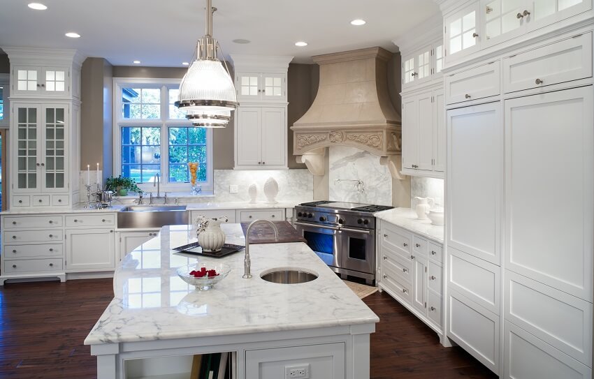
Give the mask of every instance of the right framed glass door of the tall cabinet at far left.
<path id="1" fill-rule="evenodd" d="M 41 162 L 44 191 L 66 188 L 66 126 L 68 109 L 64 106 L 43 107 L 43 155 Z"/>

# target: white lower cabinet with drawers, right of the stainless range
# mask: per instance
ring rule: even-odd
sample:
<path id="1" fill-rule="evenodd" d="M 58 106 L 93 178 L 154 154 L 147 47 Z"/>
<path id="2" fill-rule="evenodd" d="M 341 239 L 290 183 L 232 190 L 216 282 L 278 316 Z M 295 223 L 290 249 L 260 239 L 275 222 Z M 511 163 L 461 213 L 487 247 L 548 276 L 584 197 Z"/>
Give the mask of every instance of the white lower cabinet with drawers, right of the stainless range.
<path id="1" fill-rule="evenodd" d="M 379 289 L 442 336 L 442 245 L 386 221 L 378 236 Z"/>

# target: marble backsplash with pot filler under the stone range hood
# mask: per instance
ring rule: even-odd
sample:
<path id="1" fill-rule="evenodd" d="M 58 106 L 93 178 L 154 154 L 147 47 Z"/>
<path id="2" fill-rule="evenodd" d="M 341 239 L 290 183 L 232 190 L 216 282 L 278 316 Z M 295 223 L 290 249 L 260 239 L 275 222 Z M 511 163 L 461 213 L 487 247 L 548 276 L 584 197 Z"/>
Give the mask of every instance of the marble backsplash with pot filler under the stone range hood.
<path id="1" fill-rule="evenodd" d="M 354 147 L 337 146 L 329 148 L 328 159 L 330 200 L 392 205 L 392 177 L 379 164 L 379 156 Z M 358 191 L 356 180 L 363 181 L 365 191 Z"/>

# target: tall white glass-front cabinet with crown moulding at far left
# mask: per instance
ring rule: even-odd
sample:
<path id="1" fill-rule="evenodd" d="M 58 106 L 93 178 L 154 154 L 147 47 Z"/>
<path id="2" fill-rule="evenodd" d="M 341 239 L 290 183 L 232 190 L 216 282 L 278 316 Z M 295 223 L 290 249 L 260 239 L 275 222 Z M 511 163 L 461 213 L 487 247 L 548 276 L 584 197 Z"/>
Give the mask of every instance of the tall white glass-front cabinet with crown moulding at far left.
<path id="1" fill-rule="evenodd" d="M 10 60 L 11 210 L 79 198 L 80 67 L 75 50 L 3 47 Z"/>

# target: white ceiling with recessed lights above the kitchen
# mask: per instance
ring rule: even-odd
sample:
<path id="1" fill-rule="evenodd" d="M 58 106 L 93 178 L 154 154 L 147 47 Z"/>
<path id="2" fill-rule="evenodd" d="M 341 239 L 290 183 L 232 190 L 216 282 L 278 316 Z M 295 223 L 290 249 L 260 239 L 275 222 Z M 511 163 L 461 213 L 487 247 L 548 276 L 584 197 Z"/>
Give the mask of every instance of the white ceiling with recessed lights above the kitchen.
<path id="1" fill-rule="evenodd" d="M 41 2 L 47 10 L 31 10 Z M 382 46 L 438 12 L 433 0 L 213 0 L 213 35 L 229 54 L 317 54 Z M 205 0 L 1 0 L 0 47 L 77 49 L 116 66 L 181 66 L 204 34 Z M 354 27 L 351 20 L 367 24 Z M 67 38 L 75 31 L 82 37 Z M 233 43 L 242 38 L 247 45 Z M 309 45 L 296 47 L 305 40 Z"/>

